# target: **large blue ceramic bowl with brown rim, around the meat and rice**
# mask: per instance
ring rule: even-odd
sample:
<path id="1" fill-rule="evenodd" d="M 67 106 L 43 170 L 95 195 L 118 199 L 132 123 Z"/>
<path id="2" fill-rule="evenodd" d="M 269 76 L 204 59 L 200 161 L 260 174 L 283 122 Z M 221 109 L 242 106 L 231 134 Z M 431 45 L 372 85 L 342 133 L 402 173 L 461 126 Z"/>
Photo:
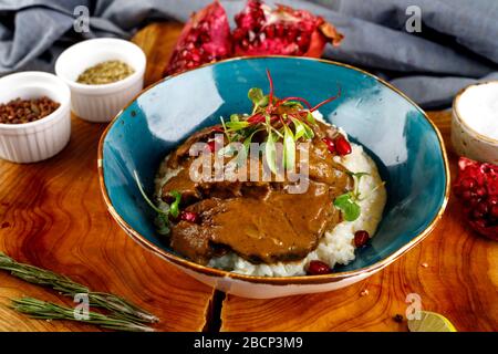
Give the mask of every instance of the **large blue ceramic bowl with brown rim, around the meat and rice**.
<path id="1" fill-rule="evenodd" d="M 342 87 L 342 97 L 320 108 L 375 159 L 386 181 L 387 205 L 378 231 L 356 259 L 318 277 L 260 278 L 193 263 L 168 248 L 154 230 L 153 212 L 133 177 L 148 194 L 164 156 L 191 133 L 220 116 L 249 112 L 250 87 L 319 103 Z M 110 124 L 100 144 L 102 192 L 111 214 L 136 241 L 190 275 L 224 291 L 273 298 L 328 291 L 362 280 L 419 242 L 443 215 L 449 171 L 444 143 L 426 114 L 401 92 L 359 69 L 298 58 L 235 59 L 167 77 L 144 91 Z"/>

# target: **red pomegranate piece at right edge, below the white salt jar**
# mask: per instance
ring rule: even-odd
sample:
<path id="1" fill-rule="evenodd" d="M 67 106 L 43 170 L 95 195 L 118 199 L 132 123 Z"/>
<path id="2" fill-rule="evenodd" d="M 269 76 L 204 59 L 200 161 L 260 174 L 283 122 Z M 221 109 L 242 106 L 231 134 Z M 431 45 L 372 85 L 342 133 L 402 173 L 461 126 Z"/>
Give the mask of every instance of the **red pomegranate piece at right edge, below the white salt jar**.
<path id="1" fill-rule="evenodd" d="M 460 157 L 454 190 L 470 226 L 498 241 L 498 166 Z"/>

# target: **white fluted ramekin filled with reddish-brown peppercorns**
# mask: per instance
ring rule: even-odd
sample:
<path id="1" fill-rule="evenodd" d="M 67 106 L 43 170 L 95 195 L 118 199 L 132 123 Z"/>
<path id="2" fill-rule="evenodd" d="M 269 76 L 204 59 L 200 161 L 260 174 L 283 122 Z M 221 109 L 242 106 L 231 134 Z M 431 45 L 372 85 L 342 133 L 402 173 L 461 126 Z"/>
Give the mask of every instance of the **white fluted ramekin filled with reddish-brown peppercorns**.
<path id="1" fill-rule="evenodd" d="M 0 79 L 0 103 L 46 96 L 60 107 L 39 121 L 0 124 L 0 158 L 13 163 L 35 163 L 61 152 L 71 136 L 71 92 L 58 76 L 43 72 L 21 72 Z"/>

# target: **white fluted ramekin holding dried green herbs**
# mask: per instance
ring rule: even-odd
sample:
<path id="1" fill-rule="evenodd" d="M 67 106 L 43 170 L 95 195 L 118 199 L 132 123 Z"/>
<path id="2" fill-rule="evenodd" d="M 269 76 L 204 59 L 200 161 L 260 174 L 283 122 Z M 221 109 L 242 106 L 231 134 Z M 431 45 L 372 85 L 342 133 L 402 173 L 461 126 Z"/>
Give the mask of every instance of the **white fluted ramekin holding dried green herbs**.
<path id="1" fill-rule="evenodd" d="M 128 77 L 104 85 L 76 82 L 86 69 L 107 60 L 120 60 L 135 72 Z M 136 44 L 102 38 L 80 42 L 66 49 L 55 62 L 55 73 L 71 88 L 71 108 L 82 119 L 110 122 L 144 86 L 146 59 Z"/>

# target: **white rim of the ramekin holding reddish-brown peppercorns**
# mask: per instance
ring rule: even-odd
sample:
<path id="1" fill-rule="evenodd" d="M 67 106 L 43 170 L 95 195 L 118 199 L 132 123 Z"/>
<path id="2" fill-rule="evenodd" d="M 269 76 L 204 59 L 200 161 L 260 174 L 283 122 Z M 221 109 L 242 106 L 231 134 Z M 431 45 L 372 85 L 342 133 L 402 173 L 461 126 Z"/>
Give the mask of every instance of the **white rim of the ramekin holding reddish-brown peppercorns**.
<path id="1" fill-rule="evenodd" d="M 37 121 L 28 122 L 28 123 L 14 123 L 14 124 L 0 123 L 0 128 L 3 131 L 17 131 L 17 129 L 19 131 L 19 129 L 44 126 L 46 124 L 50 124 L 53 121 L 56 121 L 58 117 L 61 116 L 61 114 L 64 114 L 70 108 L 71 90 L 65 84 L 65 82 L 63 80 L 61 80 L 61 77 L 59 77 L 58 75 L 46 73 L 43 71 L 22 71 L 22 72 L 12 73 L 12 74 L 6 75 L 3 77 L 0 77 L 0 85 L 2 84 L 3 80 L 8 81 L 8 80 L 13 80 L 13 79 L 23 77 L 23 76 L 25 76 L 25 77 L 39 76 L 43 80 L 53 80 L 53 82 L 56 83 L 56 85 L 58 85 L 56 91 L 61 92 L 64 95 L 64 101 L 58 102 L 59 107 L 55 111 L 53 111 L 51 114 L 44 116 L 43 118 L 39 118 Z M 43 91 L 45 92 L 45 94 L 44 94 L 45 96 L 49 96 L 49 93 L 52 93 L 55 91 L 55 90 L 49 90 L 46 87 L 41 87 L 41 88 L 43 88 Z M 23 98 L 21 98 L 21 100 L 23 100 Z M 1 103 L 7 104 L 8 102 L 0 102 L 0 104 Z"/>

